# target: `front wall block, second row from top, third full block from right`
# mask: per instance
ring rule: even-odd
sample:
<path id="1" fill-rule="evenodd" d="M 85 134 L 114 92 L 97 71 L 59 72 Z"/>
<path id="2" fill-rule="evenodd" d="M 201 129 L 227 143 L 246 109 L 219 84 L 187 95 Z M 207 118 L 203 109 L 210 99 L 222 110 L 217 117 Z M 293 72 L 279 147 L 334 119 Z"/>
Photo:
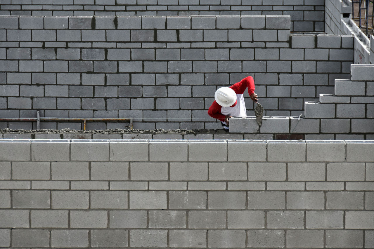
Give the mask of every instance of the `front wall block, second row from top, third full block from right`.
<path id="1" fill-rule="evenodd" d="M 248 163 L 249 181 L 284 181 L 285 179 L 285 163 Z"/>

